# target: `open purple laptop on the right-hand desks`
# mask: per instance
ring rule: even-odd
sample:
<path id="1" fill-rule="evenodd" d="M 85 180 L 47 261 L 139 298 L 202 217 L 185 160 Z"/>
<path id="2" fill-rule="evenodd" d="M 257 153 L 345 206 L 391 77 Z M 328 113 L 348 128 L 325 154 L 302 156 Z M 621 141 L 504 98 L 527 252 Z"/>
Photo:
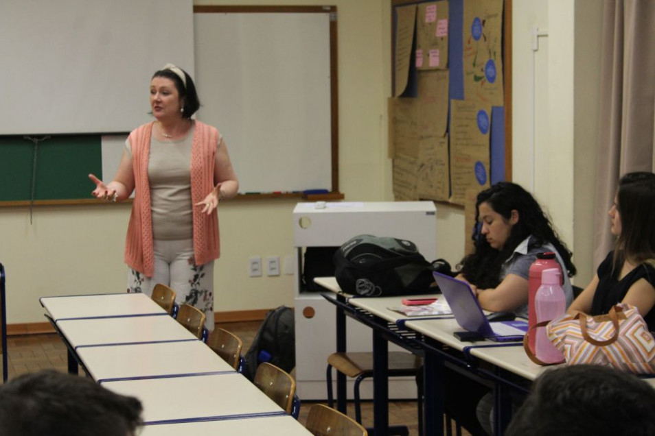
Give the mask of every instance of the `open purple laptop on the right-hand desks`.
<path id="1" fill-rule="evenodd" d="M 475 293 L 467 282 L 445 274 L 433 272 L 441 293 L 450 305 L 455 321 L 472 332 L 472 335 L 457 335 L 461 340 L 491 339 L 492 341 L 522 341 L 527 332 L 525 321 L 490 322 L 485 316 Z M 466 338 L 466 339 L 464 339 Z"/>

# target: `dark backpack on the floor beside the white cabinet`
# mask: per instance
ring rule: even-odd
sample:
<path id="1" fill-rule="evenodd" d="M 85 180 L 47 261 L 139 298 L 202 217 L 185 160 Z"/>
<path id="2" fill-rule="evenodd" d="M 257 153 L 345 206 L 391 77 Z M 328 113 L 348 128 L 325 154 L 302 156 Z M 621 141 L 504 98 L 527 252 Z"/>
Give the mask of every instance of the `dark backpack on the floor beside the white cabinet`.
<path id="1" fill-rule="evenodd" d="M 246 353 L 244 376 L 255 379 L 257 366 L 262 362 L 290 372 L 296 366 L 296 335 L 293 309 L 279 306 L 266 313 L 255 339 Z"/>

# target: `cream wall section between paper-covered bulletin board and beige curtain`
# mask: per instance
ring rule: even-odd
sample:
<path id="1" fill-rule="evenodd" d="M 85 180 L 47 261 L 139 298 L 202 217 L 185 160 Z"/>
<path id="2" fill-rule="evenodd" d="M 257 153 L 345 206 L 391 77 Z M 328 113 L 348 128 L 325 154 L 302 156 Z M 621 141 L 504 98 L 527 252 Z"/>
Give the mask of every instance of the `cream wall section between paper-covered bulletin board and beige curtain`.
<path id="1" fill-rule="evenodd" d="M 513 178 L 531 190 L 573 251 L 583 286 L 594 274 L 593 195 L 603 3 L 513 3 Z M 536 33 L 543 36 L 537 37 Z M 535 38 L 538 44 L 533 46 Z M 533 50 L 533 47 L 537 47 Z"/>

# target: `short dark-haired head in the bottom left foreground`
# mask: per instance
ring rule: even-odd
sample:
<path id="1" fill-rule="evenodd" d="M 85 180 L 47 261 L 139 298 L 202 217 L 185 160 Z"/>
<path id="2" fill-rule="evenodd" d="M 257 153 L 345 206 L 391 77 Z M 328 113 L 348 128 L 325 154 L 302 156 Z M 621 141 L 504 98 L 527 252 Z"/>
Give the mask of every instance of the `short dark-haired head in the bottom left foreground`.
<path id="1" fill-rule="evenodd" d="M 90 378 L 44 370 L 0 387 L 0 436 L 134 435 L 142 409 Z"/>

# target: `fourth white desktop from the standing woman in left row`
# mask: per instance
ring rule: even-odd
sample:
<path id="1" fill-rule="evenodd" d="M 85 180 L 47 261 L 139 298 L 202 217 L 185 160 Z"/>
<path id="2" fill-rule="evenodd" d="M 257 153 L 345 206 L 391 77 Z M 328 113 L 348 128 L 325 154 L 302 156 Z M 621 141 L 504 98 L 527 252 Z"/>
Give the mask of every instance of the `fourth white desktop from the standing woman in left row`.
<path id="1" fill-rule="evenodd" d="M 209 418 L 282 409 L 238 373 L 139 380 L 101 384 L 143 404 L 143 422 Z"/>

